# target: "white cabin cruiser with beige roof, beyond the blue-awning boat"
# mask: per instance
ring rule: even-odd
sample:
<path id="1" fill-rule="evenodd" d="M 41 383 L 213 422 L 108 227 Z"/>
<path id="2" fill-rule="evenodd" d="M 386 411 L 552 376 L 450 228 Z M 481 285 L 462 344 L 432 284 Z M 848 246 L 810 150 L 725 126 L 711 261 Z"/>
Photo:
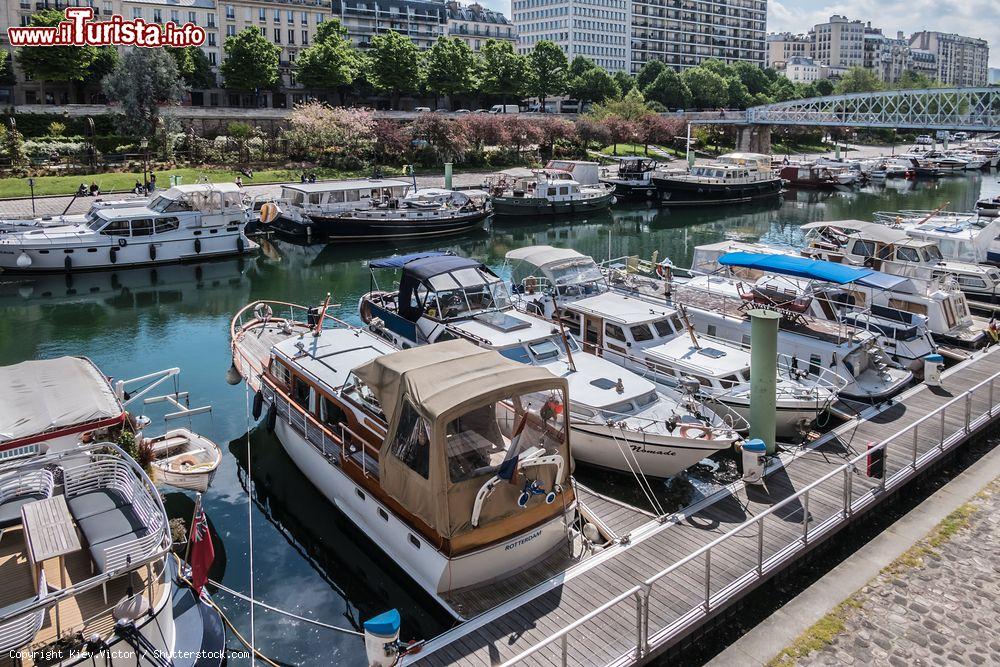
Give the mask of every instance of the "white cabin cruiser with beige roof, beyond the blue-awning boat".
<path id="1" fill-rule="evenodd" d="M 802 254 L 924 281 L 953 277 L 967 296 L 990 300 L 1000 291 L 1000 270 L 946 260 L 937 242 L 911 238 L 877 222 L 832 220 L 802 225 Z"/>

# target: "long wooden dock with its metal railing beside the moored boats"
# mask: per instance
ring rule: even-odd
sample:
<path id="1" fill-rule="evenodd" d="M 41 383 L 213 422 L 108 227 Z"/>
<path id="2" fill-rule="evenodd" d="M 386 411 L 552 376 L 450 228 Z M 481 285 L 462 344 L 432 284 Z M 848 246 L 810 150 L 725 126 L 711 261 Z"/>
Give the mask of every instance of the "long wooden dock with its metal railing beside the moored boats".
<path id="1" fill-rule="evenodd" d="M 431 639 L 404 662 L 644 662 L 850 525 L 998 414 L 1000 348 L 992 348 L 949 369 L 942 387 L 914 387 L 783 452 L 769 463 L 762 485 L 731 484 L 666 520 L 643 522 L 622 512 L 621 533 L 610 527 L 625 539 L 613 548 Z M 874 458 L 883 457 L 880 478 L 868 474 L 869 447 Z M 602 514 L 614 521 L 613 508 Z"/>

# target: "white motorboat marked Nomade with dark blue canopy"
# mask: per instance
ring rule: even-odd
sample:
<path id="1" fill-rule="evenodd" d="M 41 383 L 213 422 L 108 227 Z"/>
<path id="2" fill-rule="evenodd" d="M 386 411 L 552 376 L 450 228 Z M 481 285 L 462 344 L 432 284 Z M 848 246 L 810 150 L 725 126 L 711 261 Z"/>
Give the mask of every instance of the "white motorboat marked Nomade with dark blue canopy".
<path id="1" fill-rule="evenodd" d="M 615 470 L 669 477 L 736 439 L 692 395 L 654 383 L 580 348 L 552 322 L 514 309 L 503 282 L 482 263 L 422 253 L 369 263 L 376 289 L 362 319 L 402 347 L 465 338 L 569 382 L 574 457 Z M 375 272 L 401 270 L 399 289 L 377 289 Z"/>

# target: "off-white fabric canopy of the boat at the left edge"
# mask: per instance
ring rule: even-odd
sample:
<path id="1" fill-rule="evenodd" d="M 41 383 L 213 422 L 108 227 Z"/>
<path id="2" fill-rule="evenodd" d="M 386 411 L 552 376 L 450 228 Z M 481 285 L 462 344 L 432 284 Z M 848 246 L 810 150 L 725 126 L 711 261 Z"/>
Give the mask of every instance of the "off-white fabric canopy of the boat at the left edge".
<path id="1" fill-rule="evenodd" d="M 124 414 L 107 378 L 82 357 L 4 366 L 0 387 L 0 444 Z"/>

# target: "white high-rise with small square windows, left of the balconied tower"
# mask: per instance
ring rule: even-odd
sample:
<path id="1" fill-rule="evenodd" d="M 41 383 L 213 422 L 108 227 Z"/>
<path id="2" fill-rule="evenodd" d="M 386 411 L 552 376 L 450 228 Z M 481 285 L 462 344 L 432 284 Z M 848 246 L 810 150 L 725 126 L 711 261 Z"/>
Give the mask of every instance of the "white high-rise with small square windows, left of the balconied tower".
<path id="1" fill-rule="evenodd" d="M 512 0 L 517 50 L 527 54 L 548 40 L 570 60 L 585 56 L 609 72 L 628 71 L 630 7 L 626 0 Z"/>

